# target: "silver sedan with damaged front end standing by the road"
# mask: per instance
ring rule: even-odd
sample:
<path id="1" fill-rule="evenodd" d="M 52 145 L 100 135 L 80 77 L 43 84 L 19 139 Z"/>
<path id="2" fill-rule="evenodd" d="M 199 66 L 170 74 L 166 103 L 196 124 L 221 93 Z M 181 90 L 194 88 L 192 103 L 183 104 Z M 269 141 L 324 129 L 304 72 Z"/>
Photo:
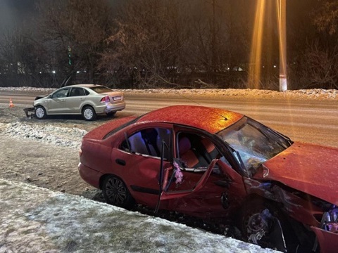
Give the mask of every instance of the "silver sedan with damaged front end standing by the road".
<path id="1" fill-rule="evenodd" d="M 35 117 L 47 115 L 82 115 L 85 120 L 94 120 L 96 115 L 115 115 L 125 109 L 123 92 L 113 91 L 96 84 L 77 84 L 57 89 L 34 103 Z"/>

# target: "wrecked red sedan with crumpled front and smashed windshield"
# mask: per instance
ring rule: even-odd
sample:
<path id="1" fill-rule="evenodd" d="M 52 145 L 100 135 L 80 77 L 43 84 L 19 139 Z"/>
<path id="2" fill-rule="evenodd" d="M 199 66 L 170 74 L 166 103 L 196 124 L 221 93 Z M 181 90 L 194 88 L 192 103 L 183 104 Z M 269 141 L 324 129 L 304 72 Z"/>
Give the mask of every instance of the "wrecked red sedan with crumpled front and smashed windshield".
<path id="1" fill-rule="evenodd" d="M 337 252 L 338 149 L 218 108 L 176 105 L 89 131 L 79 172 L 106 202 L 229 223 L 282 252 Z"/>

